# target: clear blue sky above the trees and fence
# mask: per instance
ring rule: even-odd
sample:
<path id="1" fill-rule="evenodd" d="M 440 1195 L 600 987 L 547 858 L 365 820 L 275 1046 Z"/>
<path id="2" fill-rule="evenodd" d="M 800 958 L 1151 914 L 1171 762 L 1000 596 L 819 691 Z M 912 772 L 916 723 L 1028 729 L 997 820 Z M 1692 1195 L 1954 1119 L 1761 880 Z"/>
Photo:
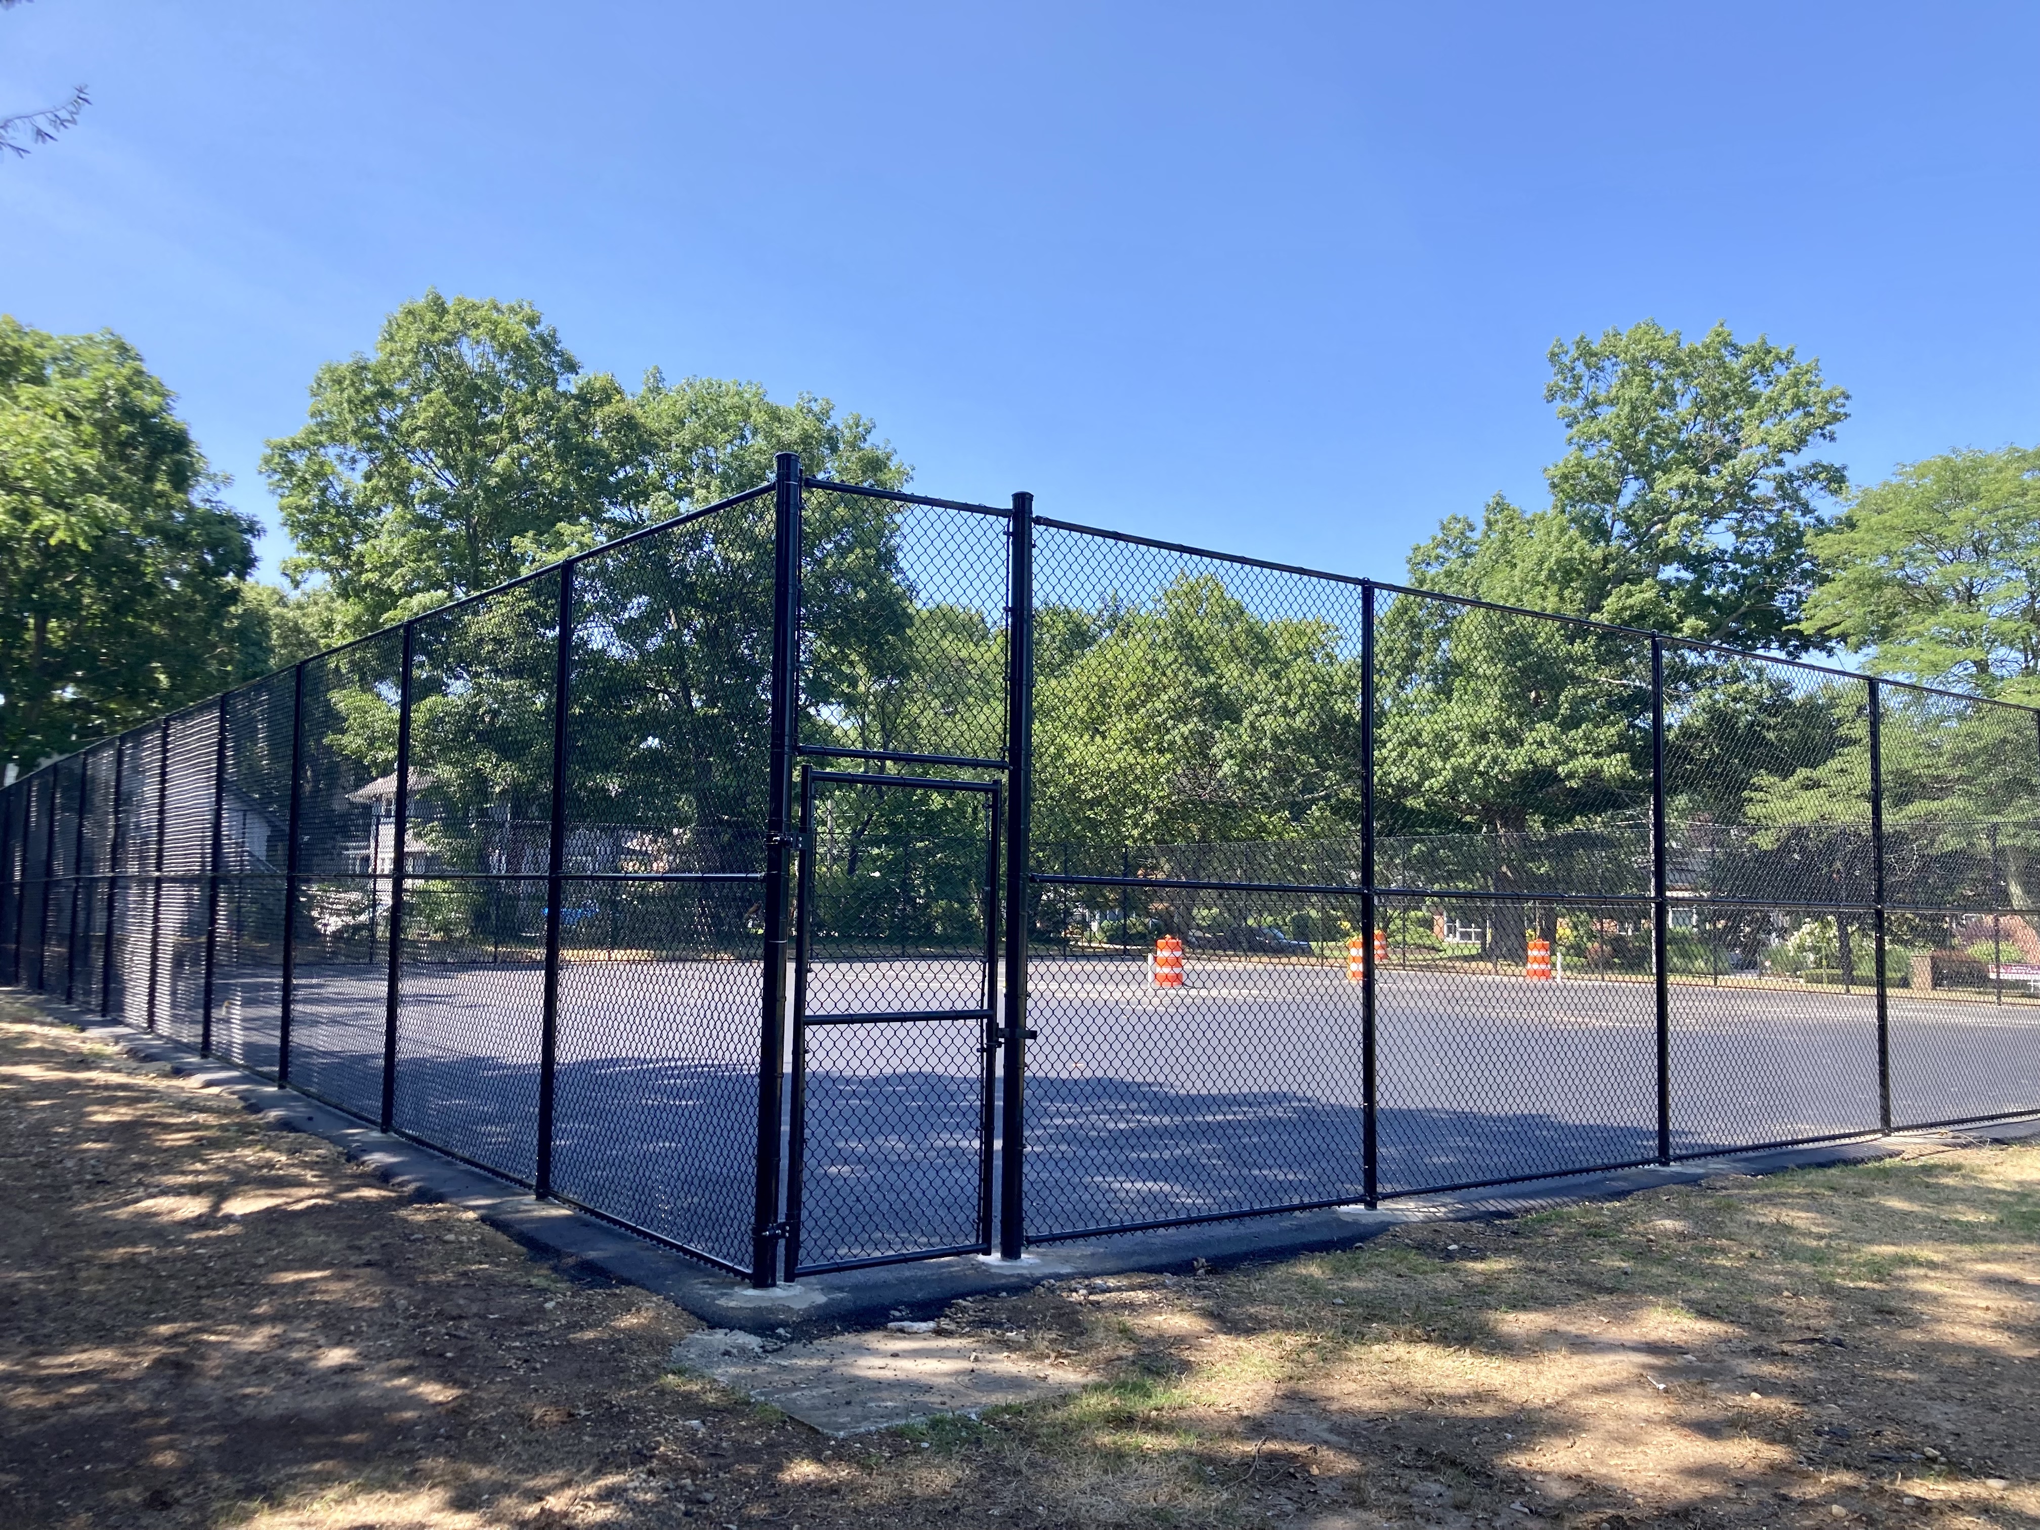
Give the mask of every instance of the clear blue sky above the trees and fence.
<path id="1" fill-rule="evenodd" d="M 2036 59 L 2032 4 L 37 0 L 0 110 L 94 106 L 0 163 L 0 310 L 126 335 L 271 522 L 263 439 L 439 286 L 932 494 L 1395 575 L 1642 316 L 1818 355 L 1863 481 L 2040 441 Z"/>

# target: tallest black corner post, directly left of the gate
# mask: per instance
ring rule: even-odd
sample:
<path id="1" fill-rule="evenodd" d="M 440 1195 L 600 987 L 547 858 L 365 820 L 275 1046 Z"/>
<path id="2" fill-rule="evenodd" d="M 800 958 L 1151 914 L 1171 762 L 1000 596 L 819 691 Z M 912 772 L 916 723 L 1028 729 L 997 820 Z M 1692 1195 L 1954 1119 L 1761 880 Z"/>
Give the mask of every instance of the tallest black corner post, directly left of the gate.
<path id="1" fill-rule="evenodd" d="M 765 794 L 765 973 L 759 1016 L 759 1146 L 751 1216 L 751 1283 L 779 1279 L 779 1116 L 785 1053 L 787 822 L 794 814 L 794 734 L 800 708 L 800 457 L 773 457 L 771 781 Z"/>

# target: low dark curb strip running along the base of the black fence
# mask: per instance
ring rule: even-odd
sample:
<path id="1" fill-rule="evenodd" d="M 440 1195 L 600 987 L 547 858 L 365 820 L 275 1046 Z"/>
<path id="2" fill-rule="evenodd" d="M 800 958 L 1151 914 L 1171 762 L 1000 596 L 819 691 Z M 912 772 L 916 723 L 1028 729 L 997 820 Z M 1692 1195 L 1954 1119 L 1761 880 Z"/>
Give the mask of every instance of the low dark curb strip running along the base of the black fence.
<path id="1" fill-rule="evenodd" d="M 598 1216 L 541 1202 L 530 1191 L 481 1169 L 455 1163 L 322 1106 L 294 1089 L 279 1089 L 190 1047 L 98 1016 L 67 1016 L 67 1006 L 37 1000 L 51 1018 L 112 1040 L 129 1057 L 163 1063 L 180 1077 L 220 1089 L 271 1126 L 308 1132 L 339 1146 L 353 1163 L 420 1202 L 445 1202 L 471 1212 L 514 1238 L 569 1279 L 612 1279 L 663 1295 L 714 1328 L 738 1328 L 777 1338 L 818 1338 L 887 1320 L 934 1318 L 967 1295 L 1008 1295 L 1042 1281 L 1091 1279 L 1132 1271 L 1187 1275 L 1200 1265 L 1238 1265 L 1306 1253 L 1353 1248 L 1387 1228 L 1408 1222 L 1473 1222 L 1589 1200 L 1620 1200 L 1671 1185 L 1691 1185 L 1714 1175 L 1769 1175 L 1787 1169 L 1822 1169 L 1838 1163 L 1875 1163 L 1899 1144 L 2013 1142 L 2040 1136 L 2040 1118 L 1987 1122 L 1940 1132 L 1854 1138 L 1797 1149 L 1726 1153 L 1669 1167 L 1544 1179 L 1455 1195 L 1399 1200 L 1381 1210 L 1336 1208 L 1285 1212 L 1236 1222 L 1202 1222 L 1157 1232 L 1124 1232 L 1071 1244 L 1036 1244 L 1026 1259 L 930 1259 L 912 1265 L 814 1275 L 794 1285 L 755 1291 L 673 1248 L 610 1226 Z"/>

